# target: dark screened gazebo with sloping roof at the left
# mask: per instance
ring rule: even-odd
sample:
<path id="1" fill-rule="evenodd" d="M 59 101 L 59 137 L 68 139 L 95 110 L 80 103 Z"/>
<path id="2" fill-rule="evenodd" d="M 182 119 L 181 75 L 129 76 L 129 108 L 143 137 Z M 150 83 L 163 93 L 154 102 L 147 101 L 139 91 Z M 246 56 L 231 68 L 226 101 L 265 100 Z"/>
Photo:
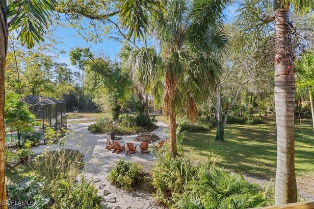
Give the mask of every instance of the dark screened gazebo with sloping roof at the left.
<path id="1" fill-rule="evenodd" d="M 28 95 L 24 101 L 29 105 L 29 111 L 36 116 L 43 129 L 50 126 L 53 129 L 67 127 L 66 102 L 46 96 Z"/>

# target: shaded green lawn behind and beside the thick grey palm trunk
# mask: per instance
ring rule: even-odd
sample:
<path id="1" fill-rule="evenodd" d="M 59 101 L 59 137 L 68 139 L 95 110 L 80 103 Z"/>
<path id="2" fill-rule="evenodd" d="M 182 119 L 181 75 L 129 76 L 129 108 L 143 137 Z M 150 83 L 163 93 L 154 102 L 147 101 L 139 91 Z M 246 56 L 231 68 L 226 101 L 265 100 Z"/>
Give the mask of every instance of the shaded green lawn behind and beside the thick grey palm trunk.
<path id="1" fill-rule="evenodd" d="M 216 130 L 186 133 L 183 141 L 185 153 L 192 160 L 206 160 L 212 153 L 216 164 L 223 168 L 256 177 L 272 179 L 276 172 L 277 143 L 275 119 L 265 117 L 258 125 L 227 124 L 224 142 L 214 141 Z M 313 175 L 312 121 L 303 119 L 295 125 L 295 171 L 298 178 Z M 313 178 L 313 176 L 312 176 Z"/>

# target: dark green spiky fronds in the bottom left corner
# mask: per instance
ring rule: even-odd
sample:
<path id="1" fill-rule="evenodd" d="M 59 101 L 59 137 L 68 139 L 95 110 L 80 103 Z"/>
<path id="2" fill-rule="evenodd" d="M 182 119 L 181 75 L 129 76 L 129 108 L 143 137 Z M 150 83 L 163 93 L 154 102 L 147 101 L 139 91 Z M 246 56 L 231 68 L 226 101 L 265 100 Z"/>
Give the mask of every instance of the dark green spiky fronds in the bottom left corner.
<path id="1" fill-rule="evenodd" d="M 15 185 L 7 185 L 7 200 L 27 201 L 33 209 L 44 209 L 50 201 L 38 176 L 26 176 Z"/>

